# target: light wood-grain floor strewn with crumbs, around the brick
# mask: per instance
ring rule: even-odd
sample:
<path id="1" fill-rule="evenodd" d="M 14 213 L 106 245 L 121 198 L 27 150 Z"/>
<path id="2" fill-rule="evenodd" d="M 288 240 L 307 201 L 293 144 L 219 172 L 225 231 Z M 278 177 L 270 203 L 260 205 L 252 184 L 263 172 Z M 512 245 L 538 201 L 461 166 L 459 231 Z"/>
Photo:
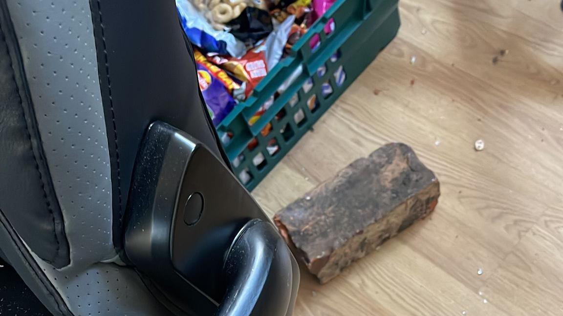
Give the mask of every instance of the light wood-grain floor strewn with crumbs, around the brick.
<path id="1" fill-rule="evenodd" d="M 404 142 L 442 196 L 430 218 L 327 285 L 302 270 L 294 315 L 563 315 L 560 2 L 400 9 L 394 42 L 253 195 L 272 215 L 358 157 Z"/>

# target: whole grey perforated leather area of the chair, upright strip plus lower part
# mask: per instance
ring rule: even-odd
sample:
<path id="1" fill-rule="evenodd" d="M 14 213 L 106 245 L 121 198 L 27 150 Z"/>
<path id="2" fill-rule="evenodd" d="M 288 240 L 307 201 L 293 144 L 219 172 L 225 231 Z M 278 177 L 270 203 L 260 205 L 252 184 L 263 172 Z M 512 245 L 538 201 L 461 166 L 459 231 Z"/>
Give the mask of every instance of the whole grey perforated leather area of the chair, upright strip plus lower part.
<path id="1" fill-rule="evenodd" d="M 68 267 L 35 260 L 74 315 L 167 315 L 133 269 L 100 263 L 116 254 L 90 3 L 7 5 L 70 246 Z"/>

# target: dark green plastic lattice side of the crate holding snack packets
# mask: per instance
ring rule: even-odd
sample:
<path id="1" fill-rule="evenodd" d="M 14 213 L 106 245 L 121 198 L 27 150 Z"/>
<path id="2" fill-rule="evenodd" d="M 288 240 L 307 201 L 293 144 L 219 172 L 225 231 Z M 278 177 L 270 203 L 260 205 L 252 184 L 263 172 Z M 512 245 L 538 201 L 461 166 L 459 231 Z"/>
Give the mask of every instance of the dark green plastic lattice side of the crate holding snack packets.
<path id="1" fill-rule="evenodd" d="M 293 46 L 291 55 L 280 61 L 262 79 L 252 96 L 239 103 L 221 121 L 217 131 L 222 136 L 235 175 L 248 190 L 260 183 L 377 54 L 391 42 L 400 25 L 397 4 L 398 0 L 337 1 Z M 333 21 L 334 31 L 325 34 L 324 26 Z M 320 44 L 311 49 L 309 42 L 314 37 L 320 39 Z M 271 100 L 280 85 L 300 65 L 301 75 L 274 100 L 260 119 L 252 125 L 249 124 L 254 113 Z M 340 74 L 338 78 L 335 72 Z M 332 93 L 324 96 L 322 89 L 328 87 L 327 83 L 332 87 Z M 307 101 L 312 96 L 316 96 L 316 102 L 314 109 L 310 110 Z M 262 129 L 269 123 L 272 127 L 270 133 L 262 136 Z M 232 138 L 225 137 L 227 134 Z M 257 146 L 249 150 L 248 144 L 254 138 Z M 272 152 L 271 147 L 270 151 L 267 148 L 274 142 L 272 139 L 275 139 L 276 145 L 279 146 L 276 152 Z"/>

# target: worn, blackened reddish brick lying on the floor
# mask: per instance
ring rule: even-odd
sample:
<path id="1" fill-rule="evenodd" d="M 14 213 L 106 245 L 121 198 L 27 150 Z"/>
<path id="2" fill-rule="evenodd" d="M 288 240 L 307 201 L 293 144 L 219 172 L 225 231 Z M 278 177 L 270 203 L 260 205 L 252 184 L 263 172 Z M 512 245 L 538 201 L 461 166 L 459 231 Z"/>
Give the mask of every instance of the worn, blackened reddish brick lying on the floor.
<path id="1" fill-rule="evenodd" d="M 390 143 L 274 216 L 298 260 L 321 283 L 434 210 L 440 183 L 414 151 Z"/>

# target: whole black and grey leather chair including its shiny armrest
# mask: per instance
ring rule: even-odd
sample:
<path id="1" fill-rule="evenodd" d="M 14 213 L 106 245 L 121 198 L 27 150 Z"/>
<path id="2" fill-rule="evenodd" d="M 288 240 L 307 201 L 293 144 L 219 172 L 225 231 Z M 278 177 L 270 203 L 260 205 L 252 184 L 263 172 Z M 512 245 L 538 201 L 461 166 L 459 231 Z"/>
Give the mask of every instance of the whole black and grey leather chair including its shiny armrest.
<path id="1" fill-rule="evenodd" d="M 0 311 L 292 313 L 296 261 L 230 172 L 174 1 L 0 0 L 0 113 Z"/>

